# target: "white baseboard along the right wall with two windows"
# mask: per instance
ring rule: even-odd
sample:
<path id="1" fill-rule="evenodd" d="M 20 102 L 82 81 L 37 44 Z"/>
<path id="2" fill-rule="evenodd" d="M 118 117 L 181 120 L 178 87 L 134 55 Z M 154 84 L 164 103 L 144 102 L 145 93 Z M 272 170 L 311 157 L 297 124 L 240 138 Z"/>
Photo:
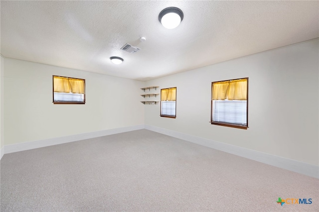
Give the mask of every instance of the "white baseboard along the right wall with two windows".
<path id="1" fill-rule="evenodd" d="M 200 138 L 197 136 L 192 136 L 172 130 L 167 130 L 164 128 L 145 125 L 145 129 L 158 132 L 164 135 L 168 135 L 174 138 L 179 138 L 192 143 L 200 144 L 202 146 L 210 147 L 216 150 L 227 152 L 233 155 L 237 155 L 243 158 L 248 158 L 254 161 L 258 161 L 264 164 L 272 165 L 289 171 L 297 172 L 303 175 L 307 175 L 314 178 L 319 178 L 319 167 L 300 161 L 291 160 L 288 158 L 283 158 L 275 155 L 270 155 L 267 153 L 258 152 L 255 150 L 246 149 L 243 147 L 238 147 L 218 141 L 213 141 L 205 138 Z"/>

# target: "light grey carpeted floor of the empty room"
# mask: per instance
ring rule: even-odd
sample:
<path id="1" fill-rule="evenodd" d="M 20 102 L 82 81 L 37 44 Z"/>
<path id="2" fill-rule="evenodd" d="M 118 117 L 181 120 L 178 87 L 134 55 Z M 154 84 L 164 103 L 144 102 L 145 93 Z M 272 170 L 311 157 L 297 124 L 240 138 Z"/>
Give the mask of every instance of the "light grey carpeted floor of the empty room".
<path id="1" fill-rule="evenodd" d="M 148 130 L 5 154 L 0 163 L 1 212 L 319 211 L 318 179 Z"/>

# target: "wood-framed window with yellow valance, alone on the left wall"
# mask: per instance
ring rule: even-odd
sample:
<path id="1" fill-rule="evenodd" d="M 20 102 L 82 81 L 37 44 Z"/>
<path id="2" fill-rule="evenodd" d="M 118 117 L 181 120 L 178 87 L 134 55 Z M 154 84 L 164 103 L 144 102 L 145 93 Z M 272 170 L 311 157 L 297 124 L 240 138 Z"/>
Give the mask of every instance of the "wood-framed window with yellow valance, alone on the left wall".
<path id="1" fill-rule="evenodd" d="M 85 104 L 85 79 L 53 76 L 53 104 Z"/>

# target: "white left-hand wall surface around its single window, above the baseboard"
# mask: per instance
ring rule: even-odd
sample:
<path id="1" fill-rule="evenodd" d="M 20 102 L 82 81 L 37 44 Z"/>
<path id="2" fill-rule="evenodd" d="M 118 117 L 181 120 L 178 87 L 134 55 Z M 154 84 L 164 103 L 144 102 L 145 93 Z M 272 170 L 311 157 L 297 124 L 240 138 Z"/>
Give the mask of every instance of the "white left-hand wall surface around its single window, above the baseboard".
<path id="1" fill-rule="evenodd" d="M 145 82 L 4 58 L 4 145 L 144 124 Z M 85 105 L 54 105 L 52 75 L 86 81 Z"/>

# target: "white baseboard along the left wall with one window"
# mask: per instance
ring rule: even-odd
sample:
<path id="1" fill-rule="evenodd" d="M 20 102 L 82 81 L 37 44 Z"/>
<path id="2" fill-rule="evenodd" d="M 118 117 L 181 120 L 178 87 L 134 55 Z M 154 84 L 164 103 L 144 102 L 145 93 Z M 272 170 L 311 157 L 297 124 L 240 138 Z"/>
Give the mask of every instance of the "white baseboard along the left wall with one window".
<path id="1" fill-rule="evenodd" d="M 64 137 L 59 137 L 59 138 L 51 138 L 51 139 L 45 139 L 45 140 L 40 140 L 40 141 L 31 141 L 31 142 L 23 142 L 23 143 L 18 143 L 18 144 L 11 144 L 11 145 L 5 145 L 4 151 L 1 150 L 1 157 L 2 157 L 2 152 L 4 154 L 8 153 L 13 153 L 13 152 L 19 152 L 19 151 L 24 151 L 24 150 L 31 150 L 31 149 L 36 149 L 40 147 L 47 147 L 47 146 L 52 146 L 52 145 L 57 145 L 57 144 L 64 144 L 64 143 L 69 143 L 73 141 L 80 141 L 84 139 L 90 139 L 90 138 L 97 138 L 101 136 L 107 136 L 107 135 L 113 135 L 113 134 L 118 134 L 118 133 L 125 133 L 133 130 L 141 130 L 144 129 L 144 124 L 142 125 L 135 125 L 135 126 L 129 126 L 129 127 L 121 127 L 121 128 L 115 128 L 115 129 L 110 129 L 110 130 L 102 130 L 102 131 L 97 131 L 97 132 L 91 132 L 91 133 L 83 133 L 83 134 L 78 134 L 78 135 L 71 135 L 71 136 L 64 136 Z"/>

